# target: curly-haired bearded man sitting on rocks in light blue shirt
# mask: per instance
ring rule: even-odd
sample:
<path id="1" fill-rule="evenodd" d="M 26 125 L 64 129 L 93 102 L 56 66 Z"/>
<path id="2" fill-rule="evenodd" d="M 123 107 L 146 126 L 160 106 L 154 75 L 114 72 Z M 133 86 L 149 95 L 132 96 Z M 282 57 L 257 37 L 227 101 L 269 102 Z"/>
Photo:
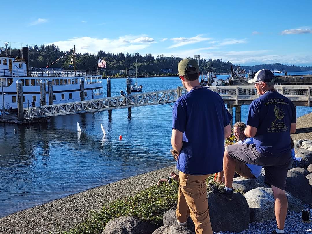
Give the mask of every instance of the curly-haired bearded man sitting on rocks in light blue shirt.
<path id="1" fill-rule="evenodd" d="M 235 144 L 253 144 L 253 138 L 245 136 L 244 134 L 245 128 L 246 128 L 246 124 L 244 124 L 243 122 L 237 122 L 234 124 L 233 134 L 236 138 Z M 235 160 L 235 172 L 237 174 L 245 178 L 259 177 L 262 166 L 240 162 L 237 159 L 234 159 L 234 160 Z M 224 182 L 223 171 L 218 173 L 217 181 Z"/>

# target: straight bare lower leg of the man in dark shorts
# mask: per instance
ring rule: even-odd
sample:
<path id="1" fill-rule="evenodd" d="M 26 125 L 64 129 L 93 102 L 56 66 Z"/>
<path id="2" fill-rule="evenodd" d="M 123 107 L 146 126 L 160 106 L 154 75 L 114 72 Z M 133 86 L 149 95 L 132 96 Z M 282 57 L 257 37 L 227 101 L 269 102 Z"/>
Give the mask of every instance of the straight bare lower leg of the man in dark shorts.
<path id="1" fill-rule="evenodd" d="M 286 214 L 287 214 L 287 208 L 288 208 L 288 203 L 287 203 L 287 197 L 285 194 L 285 191 L 276 188 L 272 186 L 273 194 L 274 194 L 274 200 L 275 200 L 275 218 L 277 222 L 277 228 L 278 229 L 284 229 L 285 226 L 285 219 L 286 219 Z"/>

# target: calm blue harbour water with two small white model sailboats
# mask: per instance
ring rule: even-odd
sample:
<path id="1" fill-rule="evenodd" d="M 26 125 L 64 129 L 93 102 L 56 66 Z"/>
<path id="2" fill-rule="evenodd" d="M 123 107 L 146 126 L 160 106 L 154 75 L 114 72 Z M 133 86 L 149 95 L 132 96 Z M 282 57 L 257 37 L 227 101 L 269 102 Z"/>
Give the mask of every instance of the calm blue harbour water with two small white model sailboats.
<path id="1" fill-rule="evenodd" d="M 181 85 L 178 77 L 140 78 L 138 84 L 144 92 Z M 111 86 L 112 96 L 119 95 L 125 79 L 111 79 Z M 248 106 L 242 106 L 242 121 L 247 111 Z M 297 116 L 310 112 L 312 107 L 297 107 Z M 169 105 L 143 106 L 113 110 L 111 115 L 102 111 L 58 116 L 31 126 L 0 125 L 0 217 L 173 165 L 171 113 Z"/>

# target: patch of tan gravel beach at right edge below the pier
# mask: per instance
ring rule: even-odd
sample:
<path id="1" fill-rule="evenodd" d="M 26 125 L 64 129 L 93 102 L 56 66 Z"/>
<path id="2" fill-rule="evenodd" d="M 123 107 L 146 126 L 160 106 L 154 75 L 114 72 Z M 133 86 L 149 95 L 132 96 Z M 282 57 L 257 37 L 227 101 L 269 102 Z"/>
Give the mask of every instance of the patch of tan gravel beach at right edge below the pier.
<path id="1" fill-rule="evenodd" d="M 297 130 L 291 137 L 293 140 L 312 139 L 312 113 L 297 119 Z"/>

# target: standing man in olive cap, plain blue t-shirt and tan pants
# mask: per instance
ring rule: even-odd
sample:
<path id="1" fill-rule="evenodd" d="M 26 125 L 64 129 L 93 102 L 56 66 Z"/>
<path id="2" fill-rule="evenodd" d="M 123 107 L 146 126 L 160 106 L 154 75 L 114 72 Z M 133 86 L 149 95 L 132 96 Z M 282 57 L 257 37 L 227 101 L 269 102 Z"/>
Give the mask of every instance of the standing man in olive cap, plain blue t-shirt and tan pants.
<path id="1" fill-rule="evenodd" d="M 188 93 L 175 102 L 172 114 L 172 153 L 180 171 L 177 222 L 185 226 L 191 215 L 197 234 L 212 234 L 205 180 L 222 171 L 232 116 L 217 93 L 199 85 L 195 60 L 180 61 L 178 72 Z"/>

